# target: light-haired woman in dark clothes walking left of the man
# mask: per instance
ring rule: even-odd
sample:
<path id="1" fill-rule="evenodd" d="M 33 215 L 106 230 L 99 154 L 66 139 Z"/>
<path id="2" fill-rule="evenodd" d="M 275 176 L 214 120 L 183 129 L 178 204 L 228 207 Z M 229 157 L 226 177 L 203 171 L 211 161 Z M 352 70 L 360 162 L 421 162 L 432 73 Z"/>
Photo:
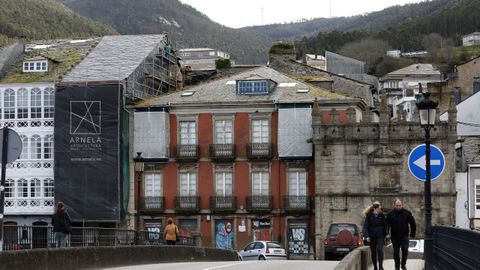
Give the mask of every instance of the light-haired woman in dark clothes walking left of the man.
<path id="1" fill-rule="evenodd" d="M 383 270 L 383 246 L 388 236 L 387 218 L 379 202 L 374 202 L 363 213 L 365 214 L 363 234 L 370 245 L 373 269 Z"/>

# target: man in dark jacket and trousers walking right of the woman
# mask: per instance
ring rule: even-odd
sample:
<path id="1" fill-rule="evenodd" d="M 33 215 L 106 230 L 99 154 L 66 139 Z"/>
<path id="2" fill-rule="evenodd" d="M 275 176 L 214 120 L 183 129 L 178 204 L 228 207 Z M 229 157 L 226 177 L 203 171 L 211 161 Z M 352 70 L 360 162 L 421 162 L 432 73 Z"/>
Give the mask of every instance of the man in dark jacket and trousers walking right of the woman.
<path id="1" fill-rule="evenodd" d="M 403 208 L 402 201 L 395 199 L 395 209 L 387 215 L 387 223 L 390 228 L 390 237 L 393 245 L 393 259 L 395 261 L 395 270 L 407 269 L 408 257 L 408 237 L 415 238 L 417 226 L 412 213 Z M 409 226 L 410 225 L 410 226 Z M 400 264 L 400 249 L 402 250 L 402 261 Z"/>

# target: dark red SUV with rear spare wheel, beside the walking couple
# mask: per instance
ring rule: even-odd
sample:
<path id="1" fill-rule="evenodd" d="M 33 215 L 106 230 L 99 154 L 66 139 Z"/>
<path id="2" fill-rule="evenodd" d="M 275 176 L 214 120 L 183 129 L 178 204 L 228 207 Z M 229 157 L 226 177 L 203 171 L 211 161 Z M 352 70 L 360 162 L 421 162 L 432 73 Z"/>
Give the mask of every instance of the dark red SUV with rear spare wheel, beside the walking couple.
<path id="1" fill-rule="evenodd" d="M 336 259 L 348 254 L 350 251 L 362 245 L 357 224 L 330 224 L 324 244 L 326 260 Z"/>

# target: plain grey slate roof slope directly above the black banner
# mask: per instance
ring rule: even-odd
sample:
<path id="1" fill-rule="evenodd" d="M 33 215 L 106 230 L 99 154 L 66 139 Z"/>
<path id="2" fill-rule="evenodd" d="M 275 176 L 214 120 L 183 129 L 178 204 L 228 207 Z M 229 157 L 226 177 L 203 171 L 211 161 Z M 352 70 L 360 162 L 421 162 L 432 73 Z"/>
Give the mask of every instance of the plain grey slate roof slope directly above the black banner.
<path id="1" fill-rule="evenodd" d="M 127 78 L 165 35 L 105 36 L 63 82 L 118 81 Z"/>

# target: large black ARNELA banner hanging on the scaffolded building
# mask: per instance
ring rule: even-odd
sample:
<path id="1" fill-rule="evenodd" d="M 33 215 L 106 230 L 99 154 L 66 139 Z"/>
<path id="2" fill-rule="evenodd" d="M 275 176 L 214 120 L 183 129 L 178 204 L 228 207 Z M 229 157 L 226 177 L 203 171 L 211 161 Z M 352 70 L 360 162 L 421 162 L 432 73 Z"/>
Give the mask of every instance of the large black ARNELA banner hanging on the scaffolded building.
<path id="1" fill-rule="evenodd" d="M 120 219 L 120 90 L 67 86 L 55 95 L 55 200 L 76 221 Z"/>

